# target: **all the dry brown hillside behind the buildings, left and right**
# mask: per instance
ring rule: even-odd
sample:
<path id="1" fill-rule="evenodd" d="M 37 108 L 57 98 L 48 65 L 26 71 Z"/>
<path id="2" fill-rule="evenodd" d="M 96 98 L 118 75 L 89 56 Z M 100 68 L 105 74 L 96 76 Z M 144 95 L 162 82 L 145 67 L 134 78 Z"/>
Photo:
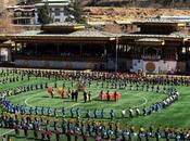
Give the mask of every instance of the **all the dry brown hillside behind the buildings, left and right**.
<path id="1" fill-rule="evenodd" d="M 18 2 L 24 4 L 25 0 L 4 0 L 0 2 L 0 10 L 4 10 L 8 5 L 13 5 Z M 40 0 L 27 0 L 25 4 L 34 4 Z M 131 2 L 135 1 L 135 2 Z M 141 1 L 141 2 L 139 2 Z M 188 15 L 190 16 L 190 11 L 186 9 L 177 10 L 170 8 L 161 9 L 161 3 L 164 0 L 81 0 L 84 5 L 109 5 L 109 7 L 85 7 L 84 10 L 88 15 L 88 21 L 90 22 L 107 22 L 113 23 L 114 21 L 130 21 L 130 20 L 140 20 L 147 17 L 155 17 L 160 15 Z M 161 2 L 162 1 L 162 2 Z M 169 1 L 169 0 L 167 0 Z M 177 1 L 177 0 L 176 0 Z M 183 1 L 183 2 L 182 2 Z M 190 0 L 181 0 L 181 2 L 175 2 L 173 5 L 182 5 L 186 3 L 188 5 Z M 140 4 L 149 2 L 152 7 L 142 8 Z M 111 5 L 122 5 L 122 7 L 111 7 Z M 135 7 L 138 5 L 139 7 Z M 130 7 L 128 7 L 130 5 Z M 147 4 L 149 5 L 149 4 Z M 14 29 L 10 25 L 11 16 L 10 13 L 5 12 L 4 14 L 0 13 L 3 21 L 0 22 L 1 33 L 14 33 Z"/>

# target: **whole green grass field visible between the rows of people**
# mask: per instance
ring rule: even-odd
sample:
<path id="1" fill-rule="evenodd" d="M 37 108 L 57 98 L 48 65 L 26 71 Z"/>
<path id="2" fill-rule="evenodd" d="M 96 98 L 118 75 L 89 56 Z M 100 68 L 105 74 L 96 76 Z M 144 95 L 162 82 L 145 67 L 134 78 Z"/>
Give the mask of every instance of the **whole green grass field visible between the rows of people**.
<path id="1" fill-rule="evenodd" d="M 11 77 L 11 75 L 10 75 Z M 0 77 L 2 79 L 2 77 Z M 48 80 L 47 78 L 36 78 L 31 77 L 30 80 L 25 80 L 18 81 L 18 82 L 9 82 L 4 85 L 0 85 L 0 90 L 8 90 L 11 88 L 16 88 L 18 86 L 24 86 L 24 85 L 30 85 L 30 84 L 41 84 L 41 82 L 48 82 L 48 86 L 54 86 L 54 79 Z M 63 84 L 65 85 L 64 90 L 76 89 L 77 82 L 74 82 L 74 87 L 71 86 L 71 81 L 68 80 L 58 80 L 56 81 L 58 87 L 62 87 Z M 101 82 L 100 82 L 101 84 Z M 140 127 L 143 126 L 144 128 L 148 128 L 151 124 L 154 127 L 159 127 L 160 125 L 162 127 L 174 127 L 174 128 L 189 128 L 190 127 L 190 88 L 188 87 L 176 87 L 177 90 L 180 93 L 179 101 L 175 102 L 170 106 L 168 106 L 165 110 L 162 110 L 157 113 L 153 113 L 149 116 L 139 116 L 139 117 L 134 117 L 134 118 L 121 118 L 121 111 L 122 110 L 129 110 L 129 107 L 139 107 L 140 110 L 144 106 L 150 106 L 152 103 L 160 102 L 164 98 L 166 98 L 166 94 L 164 93 L 157 93 L 157 92 L 152 92 L 151 90 L 147 92 L 145 90 L 129 90 L 129 88 L 126 89 L 111 89 L 111 88 L 102 88 L 101 85 L 97 86 L 97 81 L 92 81 L 92 85 L 86 88 L 87 91 L 91 91 L 91 102 L 84 103 L 84 98 L 83 93 L 79 93 L 78 102 L 73 102 L 68 98 L 60 99 L 58 95 L 55 98 L 51 99 L 47 92 L 46 89 L 42 90 L 34 90 L 34 91 L 28 91 L 24 92 L 17 95 L 12 95 L 9 97 L 9 100 L 13 104 L 26 104 L 27 107 L 29 106 L 45 106 L 45 107 L 52 107 L 52 108 L 58 108 L 60 111 L 60 119 L 61 117 L 61 108 L 62 107 L 67 107 L 68 108 L 68 117 L 69 118 L 69 108 L 74 107 L 75 110 L 79 107 L 81 111 L 86 112 L 87 110 L 92 111 L 94 108 L 98 108 L 98 111 L 101 111 L 104 108 L 106 111 L 106 118 L 103 119 L 105 121 L 110 121 L 110 111 L 113 108 L 116 112 L 116 118 L 115 120 L 119 120 L 122 124 L 122 128 L 125 129 L 125 125 L 134 125 L 135 127 Z M 140 88 L 139 88 L 140 89 Z M 104 91 L 119 91 L 122 93 L 122 99 L 117 102 L 115 101 L 101 101 L 99 99 L 99 93 L 101 90 Z M 56 93 L 56 89 L 55 89 Z M 0 111 L 2 111 L 2 107 L 0 107 Z M 87 120 L 85 118 L 84 120 Z M 102 120 L 100 117 L 96 118 L 96 120 Z M 5 132 L 9 132 L 10 129 L 0 129 L 0 136 L 2 136 Z M 10 132 L 9 132 L 10 133 Z M 14 134 L 14 131 L 11 132 L 10 134 Z M 1 139 L 2 137 L 0 137 Z M 26 139 L 15 139 L 12 137 L 15 141 L 24 141 Z M 62 137 L 63 140 L 66 140 L 64 137 Z M 29 139 L 33 141 L 33 139 Z M 92 139 L 91 139 L 92 140 Z"/>

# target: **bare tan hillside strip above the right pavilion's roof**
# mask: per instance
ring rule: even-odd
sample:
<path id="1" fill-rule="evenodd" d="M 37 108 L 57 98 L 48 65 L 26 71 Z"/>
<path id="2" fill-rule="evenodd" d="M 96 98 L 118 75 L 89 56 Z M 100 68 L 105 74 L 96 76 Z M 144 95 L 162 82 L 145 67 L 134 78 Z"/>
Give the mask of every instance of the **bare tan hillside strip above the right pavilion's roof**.
<path id="1" fill-rule="evenodd" d="M 177 9 L 88 7 L 85 11 L 88 13 L 88 20 L 91 22 L 130 21 L 161 15 L 190 16 L 189 10 Z"/>

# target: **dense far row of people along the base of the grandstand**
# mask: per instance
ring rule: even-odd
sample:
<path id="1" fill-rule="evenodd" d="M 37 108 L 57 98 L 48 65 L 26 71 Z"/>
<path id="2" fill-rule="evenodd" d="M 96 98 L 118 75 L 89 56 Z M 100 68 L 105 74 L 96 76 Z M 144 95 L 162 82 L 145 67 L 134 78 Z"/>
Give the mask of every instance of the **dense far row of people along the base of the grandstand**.
<path id="1" fill-rule="evenodd" d="M 131 82 L 145 82 L 149 85 L 174 85 L 189 86 L 190 79 L 187 76 L 149 76 L 128 73 L 105 73 L 105 72 L 64 72 L 64 70 L 45 70 L 45 69 L 1 69 L 0 74 L 18 74 L 23 76 L 47 77 L 49 79 L 67 79 L 76 81 L 79 78 L 91 80 L 126 80 Z"/>

